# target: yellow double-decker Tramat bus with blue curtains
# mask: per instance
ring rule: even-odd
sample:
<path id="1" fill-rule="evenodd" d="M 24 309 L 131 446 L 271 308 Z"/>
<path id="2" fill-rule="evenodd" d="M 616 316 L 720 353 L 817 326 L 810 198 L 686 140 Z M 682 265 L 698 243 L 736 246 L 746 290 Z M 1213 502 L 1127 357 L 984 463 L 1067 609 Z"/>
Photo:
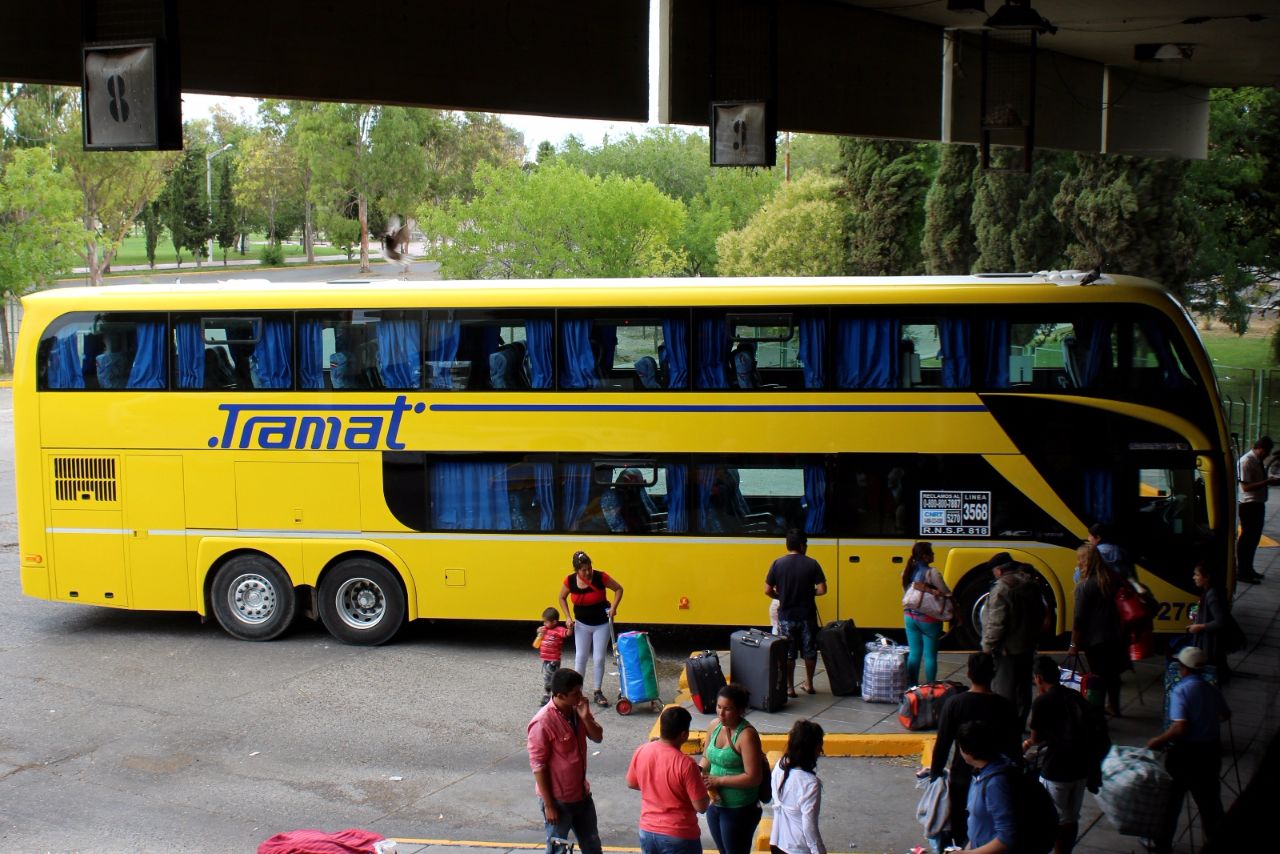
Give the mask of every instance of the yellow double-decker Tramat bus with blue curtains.
<path id="1" fill-rule="evenodd" d="M 1062 629 L 1102 521 L 1175 630 L 1196 560 L 1231 566 L 1210 362 L 1139 279 L 224 282 L 23 310 L 32 597 L 376 644 L 536 620 L 584 548 L 627 622 L 753 625 L 800 529 L 823 618 L 900 627 L 924 539 L 960 613 L 1010 552 Z"/>

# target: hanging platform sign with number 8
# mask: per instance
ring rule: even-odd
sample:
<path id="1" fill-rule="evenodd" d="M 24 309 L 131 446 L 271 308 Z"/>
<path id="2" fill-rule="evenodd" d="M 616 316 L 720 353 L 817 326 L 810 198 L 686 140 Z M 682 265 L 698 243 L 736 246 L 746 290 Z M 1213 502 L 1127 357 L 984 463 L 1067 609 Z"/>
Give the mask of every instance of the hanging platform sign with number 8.
<path id="1" fill-rule="evenodd" d="M 87 45 L 83 86 L 84 147 L 160 147 L 156 44 Z"/>

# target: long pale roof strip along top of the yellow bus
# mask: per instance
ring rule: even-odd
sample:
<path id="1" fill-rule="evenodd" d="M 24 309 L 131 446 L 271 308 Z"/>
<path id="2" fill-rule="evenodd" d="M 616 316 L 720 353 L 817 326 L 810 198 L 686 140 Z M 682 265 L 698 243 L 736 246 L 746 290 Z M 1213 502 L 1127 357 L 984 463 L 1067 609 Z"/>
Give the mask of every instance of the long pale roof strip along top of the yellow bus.
<path id="1" fill-rule="evenodd" d="M 1042 302 L 1142 300 L 1138 292 L 1164 293 L 1147 279 L 1103 275 L 1080 287 L 1085 274 L 1019 273 L 947 277 L 810 277 L 810 278 L 677 278 L 677 279 L 488 279 L 420 280 L 337 279 L 279 283 L 269 279 L 122 284 L 97 288 L 54 288 L 23 297 L 29 309 L 72 310 L 184 310 L 202 306 L 232 309 L 351 309 L 360 307 L 572 307 L 649 305 L 806 305 L 872 302 Z M 1106 287 L 1096 287 L 1106 286 Z M 1117 287 L 1125 286 L 1125 287 Z M 1135 288 L 1135 291 L 1129 289 Z M 1066 297 L 1064 291 L 1089 291 Z M 1121 293 L 1126 291 L 1126 293 Z M 786 296 L 783 296 L 786 292 Z"/>

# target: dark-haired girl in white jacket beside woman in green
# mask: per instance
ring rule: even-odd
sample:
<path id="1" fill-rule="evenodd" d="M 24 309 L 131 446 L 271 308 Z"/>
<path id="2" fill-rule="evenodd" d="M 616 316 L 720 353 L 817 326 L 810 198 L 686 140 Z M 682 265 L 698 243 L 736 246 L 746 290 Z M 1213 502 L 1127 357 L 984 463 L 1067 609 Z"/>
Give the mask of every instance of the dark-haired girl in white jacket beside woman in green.
<path id="1" fill-rule="evenodd" d="M 822 810 L 822 781 L 814 773 L 822 755 L 822 727 L 796 721 L 787 737 L 787 752 L 773 769 L 773 854 L 827 854 L 818 831 Z"/>

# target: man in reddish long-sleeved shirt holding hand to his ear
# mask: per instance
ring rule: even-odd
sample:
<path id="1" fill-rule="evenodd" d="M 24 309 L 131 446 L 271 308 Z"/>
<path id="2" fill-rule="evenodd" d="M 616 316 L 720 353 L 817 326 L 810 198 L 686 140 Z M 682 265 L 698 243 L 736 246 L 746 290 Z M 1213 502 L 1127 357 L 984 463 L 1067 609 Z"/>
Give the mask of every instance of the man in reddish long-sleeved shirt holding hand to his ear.
<path id="1" fill-rule="evenodd" d="M 586 740 L 599 744 L 604 727 L 582 697 L 582 675 L 562 667 L 552 676 L 552 702 L 529 722 L 529 767 L 534 771 L 547 830 L 547 854 L 553 839 L 577 837 L 582 854 L 600 854 L 595 802 L 586 782 Z"/>

